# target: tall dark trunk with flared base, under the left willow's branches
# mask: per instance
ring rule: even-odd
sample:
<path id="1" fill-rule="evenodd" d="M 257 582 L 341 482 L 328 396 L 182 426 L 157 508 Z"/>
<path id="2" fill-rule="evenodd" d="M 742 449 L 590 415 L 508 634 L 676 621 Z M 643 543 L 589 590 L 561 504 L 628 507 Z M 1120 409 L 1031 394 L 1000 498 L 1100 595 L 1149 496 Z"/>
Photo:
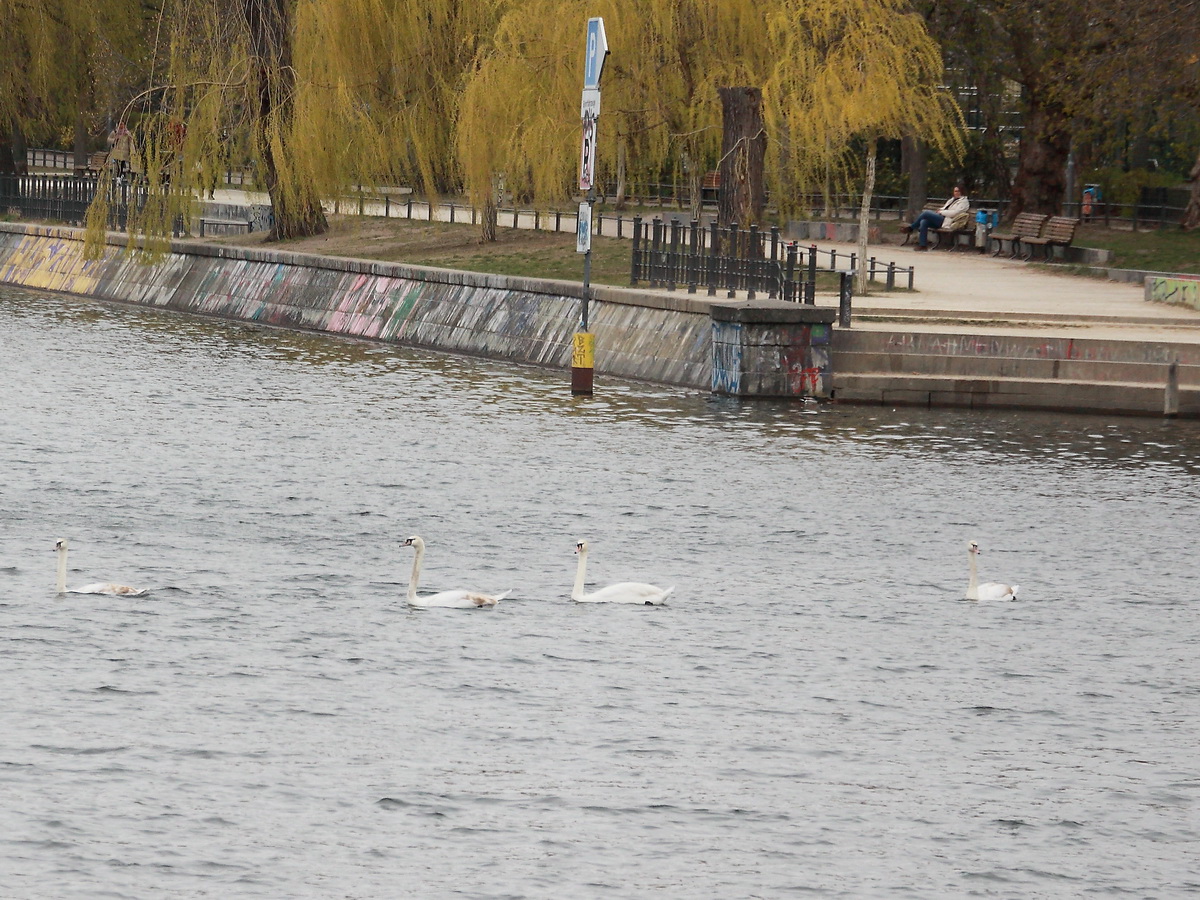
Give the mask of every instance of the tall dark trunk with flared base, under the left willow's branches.
<path id="1" fill-rule="evenodd" d="M 251 68 L 257 79 L 254 142 L 275 216 L 268 235 L 272 241 L 323 234 L 329 228 L 320 199 L 307 185 L 296 184 L 295 175 L 281 176 L 281 161 L 276 158 L 276 142 L 287 152 L 295 114 L 290 10 L 288 0 L 241 0 L 250 36 Z"/>

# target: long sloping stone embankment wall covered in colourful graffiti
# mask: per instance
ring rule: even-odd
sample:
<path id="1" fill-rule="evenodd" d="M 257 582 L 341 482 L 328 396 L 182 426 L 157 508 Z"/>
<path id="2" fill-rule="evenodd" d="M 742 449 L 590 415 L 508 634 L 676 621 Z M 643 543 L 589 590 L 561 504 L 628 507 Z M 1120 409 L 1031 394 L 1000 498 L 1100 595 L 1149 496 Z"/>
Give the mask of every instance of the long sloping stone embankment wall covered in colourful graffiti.
<path id="1" fill-rule="evenodd" d="M 0 282 L 284 328 L 569 368 L 582 287 L 371 260 L 178 242 L 146 265 L 110 236 L 0 223 Z M 598 287 L 598 374 L 709 390 L 710 305 Z M 827 364 L 828 365 L 828 364 Z"/>

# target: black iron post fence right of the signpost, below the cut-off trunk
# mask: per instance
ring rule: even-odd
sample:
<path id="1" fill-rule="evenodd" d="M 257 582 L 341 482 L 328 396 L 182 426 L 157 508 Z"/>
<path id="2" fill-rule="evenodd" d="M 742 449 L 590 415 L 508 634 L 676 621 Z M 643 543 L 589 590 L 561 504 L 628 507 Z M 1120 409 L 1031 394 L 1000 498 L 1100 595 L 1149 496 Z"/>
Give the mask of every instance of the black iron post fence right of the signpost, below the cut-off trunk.
<path id="1" fill-rule="evenodd" d="M 828 265 L 821 265 L 826 258 Z M 865 268 L 868 280 L 882 280 L 888 290 L 896 288 L 899 278 L 906 278 L 912 290 L 912 266 L 882 264 L 872 257 L 865 260 Z M 685 284 L 689 294 L 703 287 L 709 296 L 716 296 L 719 290 L 730 298 L 743 292 L 754 300 L 762 293 L 770 299 L 814 304 L 818 275 L 841 276 L 844 293 L 844 276 L 858 269 L 857 253 L 822 251 L 815 244 L 802 247 L 797 241 L 782 240 L 775 226 L 760 232 L 757 226 L 720 228 L 710 222 L 706 228 L 696 220 L 643 222 L 641 216 L 634 217 L 629 277 L 634 287 L 644 282 L 652 288 L 674 290 Z"/>

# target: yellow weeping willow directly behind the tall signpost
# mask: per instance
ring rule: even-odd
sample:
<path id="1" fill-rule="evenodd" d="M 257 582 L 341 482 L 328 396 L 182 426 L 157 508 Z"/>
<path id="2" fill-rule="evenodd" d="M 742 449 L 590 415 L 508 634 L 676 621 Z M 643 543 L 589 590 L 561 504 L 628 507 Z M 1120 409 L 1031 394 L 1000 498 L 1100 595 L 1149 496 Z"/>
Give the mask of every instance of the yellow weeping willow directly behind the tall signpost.
<path id="1" fill-rule="evenodd" d="M 700 174 L 720 142 L 701 50 L 716 8 L 696 0 L 514 0 L 462 94 L 457 149 L 473 203 L 492 208 L 500 179 L 539 206 L 572 193 L 583 38 L 592 16 L 604 17 L 613 49 L 601 85 L 600 168 L 617 173 L 618 197 L 629 180 L 659 181 L 684 168 L 698 192 Z"/>

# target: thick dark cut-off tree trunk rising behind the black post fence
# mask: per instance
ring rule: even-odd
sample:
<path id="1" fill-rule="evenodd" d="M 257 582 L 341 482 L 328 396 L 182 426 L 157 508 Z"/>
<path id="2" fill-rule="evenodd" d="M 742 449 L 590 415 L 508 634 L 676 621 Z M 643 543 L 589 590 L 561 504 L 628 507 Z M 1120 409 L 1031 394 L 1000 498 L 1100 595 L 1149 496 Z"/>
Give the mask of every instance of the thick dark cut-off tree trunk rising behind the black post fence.
<path id="1" fill-rule="evenodd" d="M 766 204 L 762 169 L 767 131 L 762 124 L 762 90 L 718 88 L 721 97 L 721 187 L 718 222 L 749 226 L 762 220 Z"/>

